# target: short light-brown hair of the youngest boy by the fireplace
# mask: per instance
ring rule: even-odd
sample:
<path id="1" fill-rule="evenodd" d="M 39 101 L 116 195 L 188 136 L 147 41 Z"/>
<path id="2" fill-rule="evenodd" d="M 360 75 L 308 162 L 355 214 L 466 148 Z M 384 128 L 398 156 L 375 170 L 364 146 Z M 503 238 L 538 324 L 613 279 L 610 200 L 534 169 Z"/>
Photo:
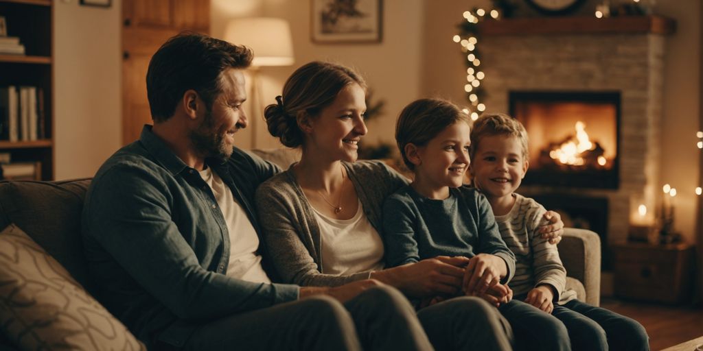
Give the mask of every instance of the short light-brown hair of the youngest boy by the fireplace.
<path id="1" fill-rule="evenodd" d="M 520 140 L 522 146 L 522 157 L 527 159 L 527 131 L 522 126 L 520 121 L 514 119 L 507 114 L 484 114 L 479 117 L 471 128 L 471 145 L 469 147 L 469 157 L 471 159 L 476 155 L 476 150 L 479 147 L 481 138 L 487 135 L 510 135 Z"/>

